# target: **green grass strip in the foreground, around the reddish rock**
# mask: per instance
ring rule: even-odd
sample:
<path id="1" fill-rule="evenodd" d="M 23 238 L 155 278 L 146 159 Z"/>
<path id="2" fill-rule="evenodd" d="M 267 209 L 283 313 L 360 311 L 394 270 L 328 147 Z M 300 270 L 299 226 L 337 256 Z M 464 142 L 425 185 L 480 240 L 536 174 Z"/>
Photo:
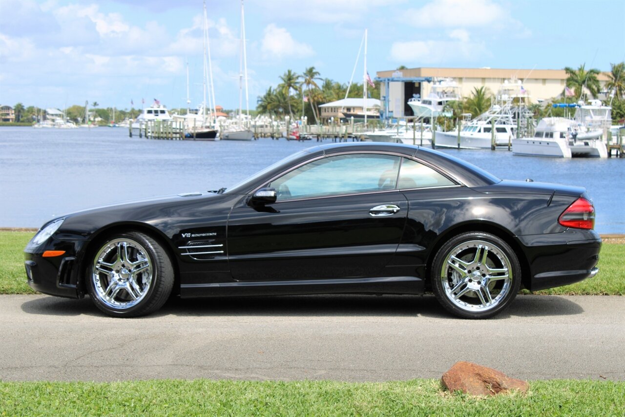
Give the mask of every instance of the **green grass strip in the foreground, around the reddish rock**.
<path id="1" fill-rule="evenodd" d="M 625 383 L 530 381 L 526 396 L 476 398 L 435 379 L 385 383 L 209 381 L 0 383 L 8 416 L 622 416 Z"/>

